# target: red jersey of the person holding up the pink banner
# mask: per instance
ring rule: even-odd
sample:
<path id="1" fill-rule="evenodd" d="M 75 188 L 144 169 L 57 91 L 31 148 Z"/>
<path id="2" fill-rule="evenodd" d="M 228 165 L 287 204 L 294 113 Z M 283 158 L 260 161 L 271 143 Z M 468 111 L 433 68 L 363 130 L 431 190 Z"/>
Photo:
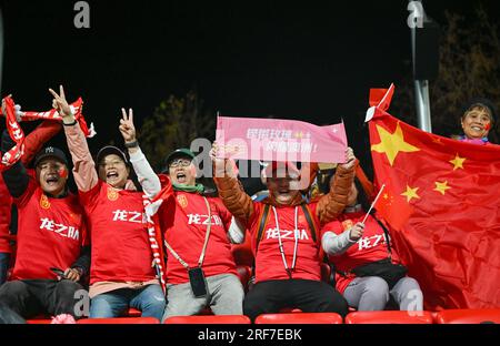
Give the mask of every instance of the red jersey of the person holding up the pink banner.
<path id="1" fill-rule="evenodd" d="M 318 203 L 308 205 L 311 216 L 314 218 L 314 224 L 320 222 L 316 216 Z M 253 202 L 253 214 L 249 221 L 250 235 L 252 236 L 252 250 L 256 253 L 257 233 L 259 231 L 260 216 L 264 204 Z M 284 257 L 288 266 L 291 267 L 293 261 L 294 248 L 294 206 L 276 207 L 278 214 L 279 232 L 281 242 L 283 244 Z M 292 278 L 302 279 L 321 279 L 321 260 L 319 241 L 321 235 L 317 235 L 317 242 L 312 240 L 309 224 L 302 208 L 298 207 L 298 250 L 296 269 L 292 273 Z M 259 243 L 256 258 L 256 283 L 268 279 L 288 279 L 289 276 L 284 269 L 283 260 L 279 250 L 278 230 L 276 225 L 274 213 L 272 208 L 269 210 L 268 223 L 262 232 L 262 237 Z M 319 238 L 318 238 L 319 237 Z"/>

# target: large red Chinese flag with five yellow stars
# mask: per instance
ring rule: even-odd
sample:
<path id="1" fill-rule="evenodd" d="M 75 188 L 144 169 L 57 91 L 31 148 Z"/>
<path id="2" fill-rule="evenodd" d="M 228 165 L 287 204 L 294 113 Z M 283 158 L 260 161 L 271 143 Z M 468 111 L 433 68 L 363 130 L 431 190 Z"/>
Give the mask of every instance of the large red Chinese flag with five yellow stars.
<path id="1" fill-rule="evenodd" d="M 500 145 L 442 138 L 372 110 L 374 184 L 398 201 L 401 213 L 389 214 L 404 215 L 391 234 L 426 308 L 500 307 Z"/>

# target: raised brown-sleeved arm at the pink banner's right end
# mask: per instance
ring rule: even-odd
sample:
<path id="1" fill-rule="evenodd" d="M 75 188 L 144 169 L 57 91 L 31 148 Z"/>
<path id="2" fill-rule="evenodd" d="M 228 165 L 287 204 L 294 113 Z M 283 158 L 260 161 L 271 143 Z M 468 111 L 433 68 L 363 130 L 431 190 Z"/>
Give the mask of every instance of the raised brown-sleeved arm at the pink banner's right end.
<path id="1" fill-rule="evenodd" d="M 318 202 L 317 213 L 322 225 L 337 218 L 346 207 L 354 179 L 354 152 L 351 147 L 348 147 L 346 163 L 337 166 L 336 175 L 330 181 L 330 192 Z"/>

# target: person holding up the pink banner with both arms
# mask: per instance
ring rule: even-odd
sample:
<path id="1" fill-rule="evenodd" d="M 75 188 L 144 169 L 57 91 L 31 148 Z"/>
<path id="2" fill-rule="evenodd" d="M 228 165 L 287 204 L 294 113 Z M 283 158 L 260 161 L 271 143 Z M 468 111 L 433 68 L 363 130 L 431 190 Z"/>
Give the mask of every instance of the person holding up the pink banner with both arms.
<path id="1" fill-rule="evenodd" d="M 233 177 L 228 159 L 213 145 L 214 182 L 228 210 L 248 227 L 256 258 L 254 286 L 247 294 L 243 312 L 251 319 L 281 308 L 336 312 L 344 316 L 348 305 L 330 285 L 321 282 L 320 226 L 334 220 L 347 204 L 356 157 L 347 149 L 328 195 L 306 203 L 300 194 L 300 172 L 290 162 L 272 162 L 266 172 L 269 197 L 253 202 Z"/>

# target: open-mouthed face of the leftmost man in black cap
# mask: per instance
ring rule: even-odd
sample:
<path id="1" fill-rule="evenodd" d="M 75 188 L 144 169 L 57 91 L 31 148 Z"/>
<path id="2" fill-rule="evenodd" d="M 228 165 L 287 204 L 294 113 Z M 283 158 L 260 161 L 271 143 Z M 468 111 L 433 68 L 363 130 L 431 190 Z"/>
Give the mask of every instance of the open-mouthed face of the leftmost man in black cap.
<path id="1" fill-rule="evenodd" d="M 47 157 L 38 163 L 36 171 L 37 180 L 44 193 L 54 197 L 64 193 L 68 181 L 68 167 L 64 163 Z"/>

